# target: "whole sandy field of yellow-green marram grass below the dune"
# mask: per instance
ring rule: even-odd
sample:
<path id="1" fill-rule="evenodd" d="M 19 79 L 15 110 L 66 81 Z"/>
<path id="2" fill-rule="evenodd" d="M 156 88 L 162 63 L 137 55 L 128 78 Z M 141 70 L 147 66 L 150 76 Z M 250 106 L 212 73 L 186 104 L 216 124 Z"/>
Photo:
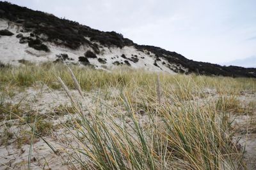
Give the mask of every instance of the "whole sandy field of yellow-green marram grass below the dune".
<path id="1" fill-rule="evenodd" d="M 28 101 L 31 89 L 38 93 Z M 44 98 L 45 89 L 61 92 L 69 104 L 60 98 L 58 106 L 45 105 L 47 111 L 33 107 Z M 248 165 L 246 145 L 239 143 L 244 134 L 256 132 L 253 78 L 172 75 L 129 67 L 108 72 L 26 62 L 0 68 L 0 91 L 1 146 L 29 148 L 20 167 L 35 166 L 39 159 L 33 159 L 33 145 L 38 140 L 67 169 L 255 166 Z M 65 122 L 52 123 L 67 116 Z M 243 124 L 234 125 L 238 120 Z M 22 131 L 11 131 L 14 126 Z M 56 133 L 59 138 L 54 138 Z M 45 169 L 54 169 L 44 160 Z"/>

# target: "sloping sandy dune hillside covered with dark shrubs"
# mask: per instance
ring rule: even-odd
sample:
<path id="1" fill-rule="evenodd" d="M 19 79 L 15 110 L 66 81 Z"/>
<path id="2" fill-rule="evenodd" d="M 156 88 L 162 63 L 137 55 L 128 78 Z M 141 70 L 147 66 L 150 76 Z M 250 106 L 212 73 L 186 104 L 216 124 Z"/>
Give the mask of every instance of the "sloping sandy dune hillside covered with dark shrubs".
<path id="1" fill-rule="evenodd" d="M 99 31 L 6 2 L 0 2 L 0 35 L 4 64 L 65 60 L 106 70 L 126 65 L 168 73 L 256 77 L 255 68 L 196 62 L 156 46 L 138 45 L 114 31 Z"/>

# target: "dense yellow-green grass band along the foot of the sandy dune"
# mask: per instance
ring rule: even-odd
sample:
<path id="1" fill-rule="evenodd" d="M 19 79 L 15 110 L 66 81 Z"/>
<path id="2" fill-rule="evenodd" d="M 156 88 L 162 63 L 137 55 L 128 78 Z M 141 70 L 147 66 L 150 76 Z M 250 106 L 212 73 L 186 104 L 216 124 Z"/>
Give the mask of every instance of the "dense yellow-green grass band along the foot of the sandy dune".
<path id="1" fill-rule="evenodd" d="M 154 89 L 156 92 L 157 77 L 161 82 L 163 93 L 175 89 L 174 95 L 180 99 L 191 99 L 193 91 L 202 88 L 215 89 L 219 94 L 237 94 L 242 90 L 256 91 L 255 78 L 228 78 L 220 76 L 196 76 L 191 74 L 152 73 L 141 69 L 132 70 L 129 67 L 115 69 L 112 72 L 95 70 L 91 67 L 70 66 L 80 87 L 83 90 L 112 88 Z M 44 83 L 52 89 L 60 89 L 61 85 L 56 79 L 60 76 L 66 85 L 74 89 L 74 81 L 70 71 L 64 64 L 29 64 L 27 66 L 8 66 L 0 68 L 0 85 L 30 87 L 36 83 Z M 2 87 L 3 88 L 3 87 Z"/>

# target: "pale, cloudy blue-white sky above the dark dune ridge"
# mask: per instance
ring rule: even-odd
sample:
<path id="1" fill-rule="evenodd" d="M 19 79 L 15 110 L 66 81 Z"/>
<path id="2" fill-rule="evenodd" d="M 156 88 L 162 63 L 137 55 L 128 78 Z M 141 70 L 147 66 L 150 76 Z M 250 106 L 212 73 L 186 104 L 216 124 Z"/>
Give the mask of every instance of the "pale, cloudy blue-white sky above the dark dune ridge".
<path id="1" fill-rule="evenodd" d="M 115 31 L 188 59 L 255 58 L 255 0 L 10 0 L 100 31 Z"/>

